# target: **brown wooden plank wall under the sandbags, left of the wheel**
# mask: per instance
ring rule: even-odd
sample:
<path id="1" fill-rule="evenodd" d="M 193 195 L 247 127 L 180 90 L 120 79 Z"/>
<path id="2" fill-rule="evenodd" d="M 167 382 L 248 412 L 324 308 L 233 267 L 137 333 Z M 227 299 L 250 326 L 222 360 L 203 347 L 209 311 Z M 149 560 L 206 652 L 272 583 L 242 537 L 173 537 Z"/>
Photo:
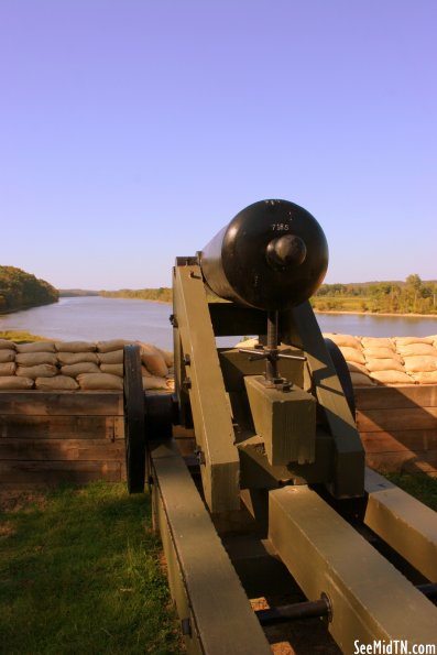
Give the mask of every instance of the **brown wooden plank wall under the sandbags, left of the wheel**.
<path id="1" fill-rule="evenodd" d="M 0 393 L 0 483 L 124 479 L 120 392 Z"/>

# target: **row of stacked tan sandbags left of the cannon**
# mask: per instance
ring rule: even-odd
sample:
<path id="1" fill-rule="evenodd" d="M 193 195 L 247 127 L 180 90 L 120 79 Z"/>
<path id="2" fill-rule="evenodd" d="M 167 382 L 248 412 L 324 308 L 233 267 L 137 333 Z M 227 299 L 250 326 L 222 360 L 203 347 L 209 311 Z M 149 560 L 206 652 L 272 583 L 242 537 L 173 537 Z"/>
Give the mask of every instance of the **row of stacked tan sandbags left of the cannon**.
<path id="1" fill-rule="evenodd" d="M 0 339 L 0 390 L 123 390 L 123 347 L 131 341 Z M 140 343 L 143 389 L 172 389 L 173 353 Z"/>

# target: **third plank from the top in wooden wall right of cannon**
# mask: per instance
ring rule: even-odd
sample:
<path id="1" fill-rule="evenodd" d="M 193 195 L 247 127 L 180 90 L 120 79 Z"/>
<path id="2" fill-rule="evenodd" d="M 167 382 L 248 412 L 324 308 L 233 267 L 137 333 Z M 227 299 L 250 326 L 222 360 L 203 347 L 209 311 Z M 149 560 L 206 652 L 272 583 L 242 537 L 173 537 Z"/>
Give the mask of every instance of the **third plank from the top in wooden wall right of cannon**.
<path id="1" fill-rule="evenodd" d="M 397 452 L 401 450 L 434 450 L 437 432 L 431 429 L 404 429 L 361 433 L 367 452 Z"/>

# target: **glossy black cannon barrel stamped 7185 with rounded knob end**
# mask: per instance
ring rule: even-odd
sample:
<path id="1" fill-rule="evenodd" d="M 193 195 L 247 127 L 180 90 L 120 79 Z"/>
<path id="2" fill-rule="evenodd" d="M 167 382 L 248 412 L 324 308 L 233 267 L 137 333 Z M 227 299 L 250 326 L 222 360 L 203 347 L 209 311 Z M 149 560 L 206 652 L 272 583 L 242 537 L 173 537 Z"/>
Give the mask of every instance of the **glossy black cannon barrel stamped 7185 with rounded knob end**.
<path id="1" fill-rule="evenodd" d="M 207 286 L 219 297 L 266 310 L 308 299 L 328 268 L 317 220 L 288 200 L 261 200 L 240 211 L 200 251 Z"/>

